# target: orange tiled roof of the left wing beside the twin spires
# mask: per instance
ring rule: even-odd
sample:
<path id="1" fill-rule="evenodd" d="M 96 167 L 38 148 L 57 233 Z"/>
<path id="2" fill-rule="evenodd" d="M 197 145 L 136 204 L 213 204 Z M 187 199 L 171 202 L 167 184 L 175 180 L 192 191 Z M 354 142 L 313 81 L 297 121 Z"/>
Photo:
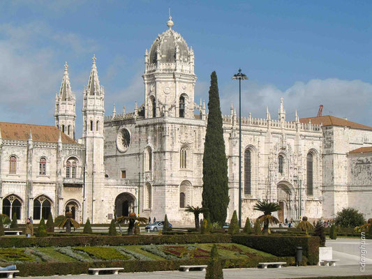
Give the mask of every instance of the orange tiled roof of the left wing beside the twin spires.
<path id="1" fill-rule="evenodd" d="M 32 140 L 35 142 L 58 142 L 59 130 L 57 127 L 0 122 L 0 133 L 3 140 L 29 140 L 30 131 Z M 61 133 L 61 140 L 65 144 L 77 144 L 65 133 Z"/>

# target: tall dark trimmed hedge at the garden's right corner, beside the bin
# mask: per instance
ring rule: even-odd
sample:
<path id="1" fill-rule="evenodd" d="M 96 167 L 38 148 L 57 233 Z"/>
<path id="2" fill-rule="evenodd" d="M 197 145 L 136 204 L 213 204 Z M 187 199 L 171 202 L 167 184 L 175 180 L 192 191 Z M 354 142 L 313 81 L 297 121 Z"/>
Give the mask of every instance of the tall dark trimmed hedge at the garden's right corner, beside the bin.
<path id="1" fill-rule="evenodd" d="M 311 236 L 232 236 L 232 242 L 239 243 L 257 250 L 268 252 L 278 257 L 294 257 L 296 247 L 302 247 L 302 253 L 307 258 L 307 264 L 316 265 L 319 262 L 318 237 Z"/>

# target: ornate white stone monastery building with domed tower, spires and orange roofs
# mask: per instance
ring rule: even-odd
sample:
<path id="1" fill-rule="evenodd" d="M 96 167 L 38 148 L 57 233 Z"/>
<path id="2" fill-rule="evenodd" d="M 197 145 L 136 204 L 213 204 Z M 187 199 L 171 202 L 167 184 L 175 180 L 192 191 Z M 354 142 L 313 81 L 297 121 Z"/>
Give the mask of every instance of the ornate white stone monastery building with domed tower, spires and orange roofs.
<path id="1" fill-rule="evenodd" d="M 24 220 L 72 211 L 81 223 L 109 223 L 139 213 L 193 224 L 186 206 L 201 206 L 205 102 L 195 103 L 195 56 L 172 29 L 144 55 L 144 102 L 105 115 L 96 57 L 83 90 L 83 133 L 75 140 L 75 93 L 65 66 L 55 126 L 0 123 L 0 210 Z M 352 206 L 372 214 L 372 127 L 320 116 L 240 119 L 242 218 L 256 202 L 278 202 L 278 218 L 334 218 Z M 228 218 L 239 204 L 239 118 L 223 116 L 228 157 Z M 362 201 L 362 202 L 361 202 Z"/>

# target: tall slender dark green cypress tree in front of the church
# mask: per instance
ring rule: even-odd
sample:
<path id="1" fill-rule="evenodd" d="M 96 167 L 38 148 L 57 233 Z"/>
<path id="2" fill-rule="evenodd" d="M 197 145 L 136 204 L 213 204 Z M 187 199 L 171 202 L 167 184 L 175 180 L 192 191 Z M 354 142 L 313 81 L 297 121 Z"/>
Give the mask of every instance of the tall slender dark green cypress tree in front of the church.
<path id="1" fill-rule="evenodd" d="M 211 73 L 208 122 L 203 155 L 202 206 L 209 209 L 211 223 L 225 225 L 230 202 L 228 188 L 228 159 L 223 140 L 222 114 L 218 95 L 217 75 Z"/>

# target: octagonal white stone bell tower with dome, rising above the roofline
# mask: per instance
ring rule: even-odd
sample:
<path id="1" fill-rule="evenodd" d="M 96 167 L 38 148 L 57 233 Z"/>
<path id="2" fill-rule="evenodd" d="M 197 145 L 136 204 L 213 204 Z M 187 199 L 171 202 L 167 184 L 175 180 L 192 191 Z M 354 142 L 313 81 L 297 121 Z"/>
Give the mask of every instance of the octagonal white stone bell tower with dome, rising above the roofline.
<path id="1" fill-rule="evenodd" d="M 172 29 L 171 16 L 167 26 L 144 53 L 144 117 L 193 118 L 197 79 L 193 47 Z"/>

